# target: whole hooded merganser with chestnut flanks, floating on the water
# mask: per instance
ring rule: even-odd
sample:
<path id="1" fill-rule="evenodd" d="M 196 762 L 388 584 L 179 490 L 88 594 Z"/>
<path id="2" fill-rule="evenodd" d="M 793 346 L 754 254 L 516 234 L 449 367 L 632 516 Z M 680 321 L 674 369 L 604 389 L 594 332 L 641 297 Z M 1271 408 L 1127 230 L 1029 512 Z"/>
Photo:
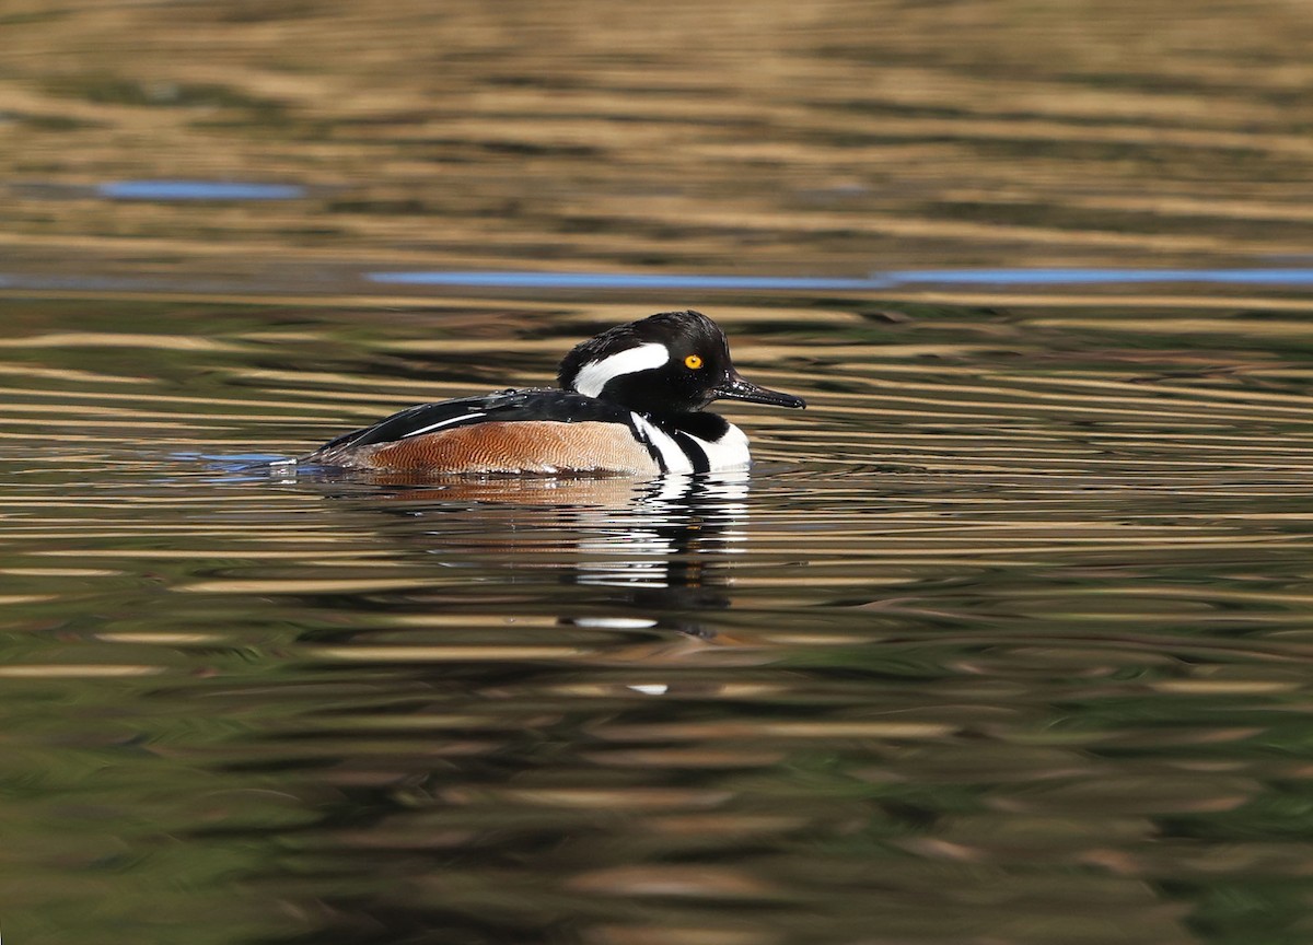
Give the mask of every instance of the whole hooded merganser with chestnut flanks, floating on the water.
<path id="1" fill-rule="evenodd" d="M 617 326 L 566 354 L 561 390 L 420 404 L 324 444 L 303 463 L 462 472 L 658 475 L 748 466 L 743 430 L 712 400 L 806 407 L 744 381 L 720 327 L 692 310 Z"/>

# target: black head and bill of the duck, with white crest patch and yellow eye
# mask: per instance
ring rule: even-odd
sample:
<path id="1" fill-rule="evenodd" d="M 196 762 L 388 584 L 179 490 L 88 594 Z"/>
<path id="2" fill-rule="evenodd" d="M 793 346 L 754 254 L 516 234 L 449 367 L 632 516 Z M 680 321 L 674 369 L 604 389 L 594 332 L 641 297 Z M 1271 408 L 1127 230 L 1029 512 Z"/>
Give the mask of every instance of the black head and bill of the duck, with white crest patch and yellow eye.
<path id="1" fill-rule="evenodd" d="M 725 332 L 691 308 L 604 331 L 566 354 L 557 379 L 638 413 L 692 413 L 722 399 L 806 407 L 802 398 L 741 378 Z"/>

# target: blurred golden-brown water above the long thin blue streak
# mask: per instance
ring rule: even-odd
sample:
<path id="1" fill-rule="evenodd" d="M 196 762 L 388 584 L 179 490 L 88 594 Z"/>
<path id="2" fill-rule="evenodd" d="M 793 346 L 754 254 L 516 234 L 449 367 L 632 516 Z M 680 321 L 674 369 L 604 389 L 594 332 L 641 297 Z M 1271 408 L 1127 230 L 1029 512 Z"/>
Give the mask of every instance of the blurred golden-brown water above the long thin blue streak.
<path id="1" fill-rule="evenodd" d="M 864 276 L 1310 249 L 1297 1 L 8 0 L 0 29 L 0 231 L 28 273 L 314 290 L 372 265 Z M 133 181 L 288 189 L 197 206 Z"/>

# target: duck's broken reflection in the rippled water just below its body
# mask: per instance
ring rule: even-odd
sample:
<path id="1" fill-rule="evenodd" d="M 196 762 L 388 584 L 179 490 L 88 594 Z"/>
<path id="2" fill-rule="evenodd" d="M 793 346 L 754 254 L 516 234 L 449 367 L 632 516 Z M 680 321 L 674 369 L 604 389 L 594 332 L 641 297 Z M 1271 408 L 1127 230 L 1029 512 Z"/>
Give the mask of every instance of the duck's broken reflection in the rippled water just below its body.
<path id="1" fill-rule="evenodd" d="M 555 622 L 596 630 L 675 630 L 710 639 L 700 613 L 730 606 L 730 555 L 747 541 L 747 471 L 632 478 L 507 476 L 423 480 L 366 474 L 311 480 L 334 487 L 355 511 L 389 520 L 406 549 L 439 555 L 469 572 L 462 589 L 406 592 L 444 610 L 496 609 L 512 588 L 566 585 L 553 593 Z M 307 478 L 302 474 L 298 486 Z M 339 491 L 345 487 L 345 491 Z M 397 520 L 406 525 L 395 528 Z M 492 574 L 488 574 L 492 572 Z M 442 581 L 446 584 L 446 581 Z M 478 600 L 470 600 L 475 593 Z M 523 595 L 516 595 L 523 614 Z M 463 598 L 463 600 L 462 600 Z M 500 598 L 504 602 L 504 597 Z"/>

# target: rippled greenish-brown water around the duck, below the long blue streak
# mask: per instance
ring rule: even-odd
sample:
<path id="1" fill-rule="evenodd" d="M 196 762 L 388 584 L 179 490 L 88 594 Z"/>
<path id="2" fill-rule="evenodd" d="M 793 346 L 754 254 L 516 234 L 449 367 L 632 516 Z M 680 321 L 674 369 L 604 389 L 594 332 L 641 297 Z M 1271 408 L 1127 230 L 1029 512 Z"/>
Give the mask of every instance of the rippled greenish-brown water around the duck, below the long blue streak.
<path id="1" fill-rule="evenodd" d="M 751 476 L 414 483 L 240 454 L 541 382 L 612 308 L 131 303 L 127 332 L 122 306 L 11 304 L 5 870 L 32 940 L 1300 921 L 1313 430 L 1287 318 L 726 304 L 744 373 L 810 404 L 734 412 Z"/>

